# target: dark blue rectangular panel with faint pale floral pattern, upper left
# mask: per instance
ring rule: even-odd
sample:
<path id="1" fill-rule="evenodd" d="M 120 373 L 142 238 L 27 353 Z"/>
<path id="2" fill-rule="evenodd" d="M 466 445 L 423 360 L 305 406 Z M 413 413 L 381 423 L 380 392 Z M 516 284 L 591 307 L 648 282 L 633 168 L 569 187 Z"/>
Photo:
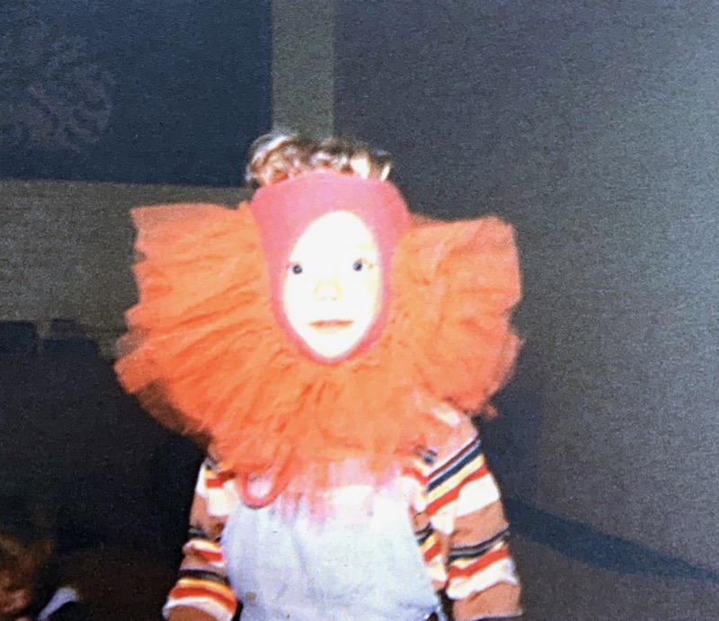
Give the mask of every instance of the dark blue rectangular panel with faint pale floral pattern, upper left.
<path id="1" fill-rule="evenodd" d="M 271 124 L 270 0 L 4 0 L 0 176 L 236 185 Z"/>

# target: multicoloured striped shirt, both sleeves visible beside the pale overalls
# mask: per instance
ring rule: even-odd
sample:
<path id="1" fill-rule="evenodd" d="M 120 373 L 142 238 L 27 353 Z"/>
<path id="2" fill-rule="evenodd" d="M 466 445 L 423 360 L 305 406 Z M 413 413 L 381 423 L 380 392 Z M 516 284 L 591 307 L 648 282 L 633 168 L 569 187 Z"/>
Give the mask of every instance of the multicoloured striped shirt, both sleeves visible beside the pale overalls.
<path id="1" fill-rule="evenodd" d="M 422 450 L 405 473 L 409 519 L 434 589 L 456 621 L 521 616 L 519 579 L 507 543 L 509 525 L 474 427 L 463 421 L 453 441 Z M 237 608 L 221 546 L 238 502 L 232 473 L 210 459 L 200 466 L 179 580 L 164 607 L 200 609 L 231 621 Z"/>

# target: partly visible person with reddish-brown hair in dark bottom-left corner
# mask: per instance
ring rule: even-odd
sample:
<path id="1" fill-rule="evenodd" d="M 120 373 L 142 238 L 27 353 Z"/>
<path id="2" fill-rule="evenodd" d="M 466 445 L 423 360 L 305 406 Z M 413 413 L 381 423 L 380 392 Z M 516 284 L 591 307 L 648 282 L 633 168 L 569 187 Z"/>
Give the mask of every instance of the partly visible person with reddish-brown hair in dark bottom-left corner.
<path id="1" fill-rule="evenodd" d="M 75 590 L 58 588 L 53 540 L 26 501 L 0 497 L 0 621 L 83 621 Z"/>

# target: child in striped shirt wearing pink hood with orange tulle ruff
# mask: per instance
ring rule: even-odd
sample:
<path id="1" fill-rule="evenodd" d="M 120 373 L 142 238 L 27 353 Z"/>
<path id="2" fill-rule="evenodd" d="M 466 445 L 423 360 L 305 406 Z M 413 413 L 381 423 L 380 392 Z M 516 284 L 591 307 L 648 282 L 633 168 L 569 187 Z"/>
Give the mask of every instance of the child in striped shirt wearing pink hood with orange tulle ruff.
<path id="1" fill-rule="evenodd" d="M 256 141 L 239 209 L 144 208 L 117 371 L 208 441 L 165 617 L 519 617 L 470 413 L 518 350 L 510 227 L 413 221 L 386 155 Z"/>

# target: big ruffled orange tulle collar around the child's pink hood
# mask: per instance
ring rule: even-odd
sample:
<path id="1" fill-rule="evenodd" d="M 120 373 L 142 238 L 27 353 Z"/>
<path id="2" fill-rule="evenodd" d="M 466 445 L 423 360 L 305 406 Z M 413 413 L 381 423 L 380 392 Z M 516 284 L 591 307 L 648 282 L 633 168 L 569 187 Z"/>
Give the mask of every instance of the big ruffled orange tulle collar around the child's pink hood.
<path id="1" fill-rule="evenodd" d="M 211 443 L 249 504 L 316 501 L 348 458 L 381 484 L 447 436 L 435 412 L 491 414 L 510 376 L 519 270 L 512 230 L 495 217 L 417 221 L 395 254 L 386 330 L 334 365 L 308 359 L 275 322 L 246 205 L 132 217 L 139 301 L 119 342 L 120 383 L 165 425 Z M 255 494 L 258 480 L 269 487 Z"/>

